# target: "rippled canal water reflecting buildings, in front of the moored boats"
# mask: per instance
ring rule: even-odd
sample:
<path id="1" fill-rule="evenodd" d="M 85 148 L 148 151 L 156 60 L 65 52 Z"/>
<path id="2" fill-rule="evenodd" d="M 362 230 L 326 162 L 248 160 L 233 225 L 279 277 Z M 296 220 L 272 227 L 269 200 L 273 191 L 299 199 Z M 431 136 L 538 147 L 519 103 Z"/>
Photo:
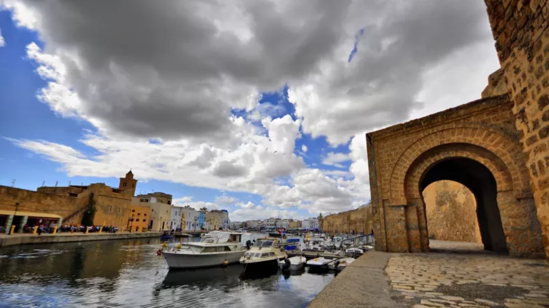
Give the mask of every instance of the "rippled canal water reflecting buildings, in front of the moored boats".
<path id="1" fill-rule="evenodd" d="M 194 240 L 194 239 L 192 239 Z M 168 271 L 159 239 L 0 249 L 0 307 L 305 307 L 334 273 Z"/>

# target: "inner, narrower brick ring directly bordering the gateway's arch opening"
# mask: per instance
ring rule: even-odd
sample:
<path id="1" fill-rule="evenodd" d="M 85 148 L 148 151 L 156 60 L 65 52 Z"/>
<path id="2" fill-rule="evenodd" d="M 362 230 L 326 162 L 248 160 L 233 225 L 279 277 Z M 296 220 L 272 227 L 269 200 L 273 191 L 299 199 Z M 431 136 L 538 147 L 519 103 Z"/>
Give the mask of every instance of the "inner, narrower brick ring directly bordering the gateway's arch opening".
<path id="1" fill-rule="evenodd" d="M 463 149 L 464 147 L 465 149 Z M 473 144 L 465 144 L 465 146 L 462 143 L 443 144 L 426 151 L 423 155 L 418 157 L 412 166 L 410 166 L 410 169 L 406 173 L 406 179 L 404 179 L 404 194 L 406 200 L 420 198 L 421 191 L 419 189 L 419 183 L 421 182 L 421 179 L 423 179 L 425 173 L 432 165 L 436 164 L 436 162 L 449 157 L 466 157 L 474 159 L 490 170 L 498 185 L 498 190 L 506 191 L 513 189 L 511 173 L 504 162 L 499 157 L 495 156 L 495 154 Z"/>

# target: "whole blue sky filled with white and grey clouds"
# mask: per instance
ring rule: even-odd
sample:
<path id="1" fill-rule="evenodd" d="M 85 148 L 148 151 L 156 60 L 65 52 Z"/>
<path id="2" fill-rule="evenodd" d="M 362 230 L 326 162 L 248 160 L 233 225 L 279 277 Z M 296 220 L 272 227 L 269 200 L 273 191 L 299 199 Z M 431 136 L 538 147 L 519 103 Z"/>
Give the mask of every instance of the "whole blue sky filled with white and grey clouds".
<path id="1" fill-rule="evenodd" d="M 412 3 L 413 2 L 413 3 Z M 303 219 L 368 203 L 365 133 L 480 99 L 482 1 L 0 0 L 0 185 Z"/>

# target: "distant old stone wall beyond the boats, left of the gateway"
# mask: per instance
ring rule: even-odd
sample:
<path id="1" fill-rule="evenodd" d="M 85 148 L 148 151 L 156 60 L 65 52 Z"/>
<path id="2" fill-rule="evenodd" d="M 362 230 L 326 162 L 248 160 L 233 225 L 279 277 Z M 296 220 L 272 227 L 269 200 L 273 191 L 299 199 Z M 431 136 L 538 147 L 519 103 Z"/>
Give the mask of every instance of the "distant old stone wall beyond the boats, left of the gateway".
<path id="1" fill-rule="evenodd" d="M 373 229 L 373 215 L 371 206 L 364 206 L 351 211 L 328 215 L 323 218 L 320 229 L 330 233 L 370 233 Z"/>

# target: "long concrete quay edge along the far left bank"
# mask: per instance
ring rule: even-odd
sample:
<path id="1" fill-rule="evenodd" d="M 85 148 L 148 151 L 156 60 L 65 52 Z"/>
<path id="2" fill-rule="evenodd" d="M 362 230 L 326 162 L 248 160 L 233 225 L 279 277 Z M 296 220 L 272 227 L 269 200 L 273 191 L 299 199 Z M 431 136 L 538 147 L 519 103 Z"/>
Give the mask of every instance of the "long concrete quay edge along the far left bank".
<path id="1" fill-rule="evenodd" d="M 137 233 L 57 233 L 57 234 L 14 234 L 0 235 L 0 247 L 25 244 L 52 244 L 66 242 L 87 242 L 102 240 L 127 240 L 136 238 L 157 238 L 161 232 Z"/>

